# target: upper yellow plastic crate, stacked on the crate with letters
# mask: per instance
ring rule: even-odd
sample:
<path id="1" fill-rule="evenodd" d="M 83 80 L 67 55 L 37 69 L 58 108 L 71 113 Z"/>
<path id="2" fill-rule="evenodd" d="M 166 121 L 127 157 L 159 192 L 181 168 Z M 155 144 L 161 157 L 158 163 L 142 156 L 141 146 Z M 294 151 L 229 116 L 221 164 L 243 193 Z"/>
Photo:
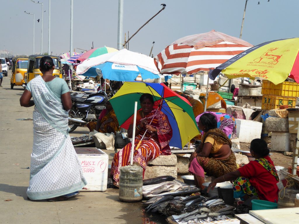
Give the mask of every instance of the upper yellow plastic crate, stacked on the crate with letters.
<path id="1" fill-rule="evenodd" d="M 263 80 L 262 94 L 299 97 L 299 84 L 296 82 L 282 82 L 274 85 L 268 80 Z"/>

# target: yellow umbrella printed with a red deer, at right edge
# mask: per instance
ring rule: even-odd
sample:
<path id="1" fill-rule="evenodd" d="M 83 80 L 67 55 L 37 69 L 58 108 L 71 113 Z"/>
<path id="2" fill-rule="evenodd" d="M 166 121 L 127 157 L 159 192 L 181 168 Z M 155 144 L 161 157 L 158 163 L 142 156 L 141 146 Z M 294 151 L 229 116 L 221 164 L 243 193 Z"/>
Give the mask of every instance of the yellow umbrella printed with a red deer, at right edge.
<path id="1" fill-rule="evenodd" d="M 229 79 L 258 78 L 277 85 L 289 77 L 299 83 L 299 38 L 272 40 L 251 47 L 211 70 L 209 77 L 215 79 L 220 72 Z"/>

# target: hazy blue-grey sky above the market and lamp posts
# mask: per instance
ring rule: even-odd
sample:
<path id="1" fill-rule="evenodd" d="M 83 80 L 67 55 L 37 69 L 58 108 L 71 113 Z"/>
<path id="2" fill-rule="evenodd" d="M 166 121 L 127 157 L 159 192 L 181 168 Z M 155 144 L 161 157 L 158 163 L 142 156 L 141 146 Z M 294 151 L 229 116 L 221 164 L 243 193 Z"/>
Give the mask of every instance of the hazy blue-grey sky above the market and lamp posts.
<path id="1" fill-rule="evenodd" d="M 41 4 L 30 0 L 1 1 L 0 51 L 32 54 L 33 16 L 35 13 L 35 52 L 41 46 Z M 37 0 L 36 0 L 37 1 Z M 43 52 L 48 51 L 48 7 L 44 3 Z M 51 51 L 53 55 L 70 49 L 70 2 L 51 0 Z M 298 0 L 249 0 L 242 39 L 256 45 L 265 41 L 298 37 Z M 124 0 L 123 32 L 131 36 L 165 3 L 158 16 L 129 42 L 129 50 L 154 56 L 173 41 L 196 33 L 216 30 L 239 37 L 245 0 Z M 38 23 L 36 20 L 40 19 Z M 118 0 L 74 0 L 73 46 L 89 50 L 104 45 L 117 48 Z"/>

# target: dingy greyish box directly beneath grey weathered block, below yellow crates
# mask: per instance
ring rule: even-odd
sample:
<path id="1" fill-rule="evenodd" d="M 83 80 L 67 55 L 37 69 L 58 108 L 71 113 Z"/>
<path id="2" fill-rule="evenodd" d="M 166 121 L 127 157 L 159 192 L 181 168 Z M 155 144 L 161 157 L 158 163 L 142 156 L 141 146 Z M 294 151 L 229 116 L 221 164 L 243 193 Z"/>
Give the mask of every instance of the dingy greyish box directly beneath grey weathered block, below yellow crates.
<path id="1" fill-rule="evenodd" d="M 272 132 L 271 150 L 279 152 L 290 151 L 290 135 L 288 132 Z"/>

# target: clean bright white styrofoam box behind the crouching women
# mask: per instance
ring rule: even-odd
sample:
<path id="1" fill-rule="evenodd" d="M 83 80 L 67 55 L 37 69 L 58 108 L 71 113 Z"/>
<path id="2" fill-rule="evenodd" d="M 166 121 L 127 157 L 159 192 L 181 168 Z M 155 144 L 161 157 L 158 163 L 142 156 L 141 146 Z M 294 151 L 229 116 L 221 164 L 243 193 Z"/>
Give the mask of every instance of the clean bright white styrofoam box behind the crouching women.
<path id="1" fill-rule="evenodd" d="M 262 122 L 235 119 L 237 124 L 237 138 L 240 142 L 250 143 L 253 139 L 260 139 Z"/>

